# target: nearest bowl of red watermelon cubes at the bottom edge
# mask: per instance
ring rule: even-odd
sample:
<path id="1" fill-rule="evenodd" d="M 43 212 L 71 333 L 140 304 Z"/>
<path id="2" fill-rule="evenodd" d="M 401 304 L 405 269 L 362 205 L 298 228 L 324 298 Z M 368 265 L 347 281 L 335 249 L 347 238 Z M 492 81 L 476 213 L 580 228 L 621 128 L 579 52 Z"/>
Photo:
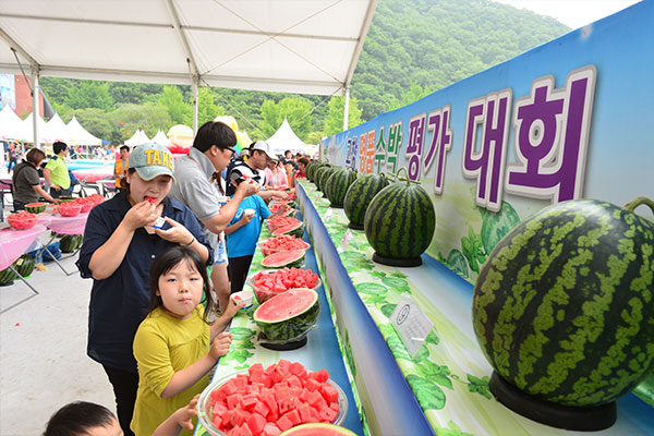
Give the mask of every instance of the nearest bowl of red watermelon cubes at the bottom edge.
<path id="1" fill-rule="evenodd" d="M 213 436 L 272 436 L 305 423 L 338 425 L 347 413 L 346 393 L 327 370 L 307 371 L 284 359 L 217 378 L 197 402 L 199 422 Z"/>

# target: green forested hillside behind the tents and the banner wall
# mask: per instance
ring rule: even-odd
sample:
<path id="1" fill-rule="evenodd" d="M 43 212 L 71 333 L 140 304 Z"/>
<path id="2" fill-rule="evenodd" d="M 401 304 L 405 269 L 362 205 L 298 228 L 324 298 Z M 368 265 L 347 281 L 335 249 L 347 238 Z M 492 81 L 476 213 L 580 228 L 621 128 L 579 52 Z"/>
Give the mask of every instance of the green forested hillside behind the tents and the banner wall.
<path id="1" fill-rule="evenodd" d="M 349 124 L 407 105 L 568 31 L 554 19 L 487 0 L 379 0 L 352 80 Z M 137 128 L 152 137 L 175 123 L 192 124 L 190 86 L 56 77 L 40 83 L 65 122 L 74 113 L 93 134 L 114 144 Z M 342 108 L 342 97 L 199 90 L 201 123 L 231 114 L 253 140 L 271 135 L 287 117 L 303 141 L 316 143 L 340 131 Z"/>

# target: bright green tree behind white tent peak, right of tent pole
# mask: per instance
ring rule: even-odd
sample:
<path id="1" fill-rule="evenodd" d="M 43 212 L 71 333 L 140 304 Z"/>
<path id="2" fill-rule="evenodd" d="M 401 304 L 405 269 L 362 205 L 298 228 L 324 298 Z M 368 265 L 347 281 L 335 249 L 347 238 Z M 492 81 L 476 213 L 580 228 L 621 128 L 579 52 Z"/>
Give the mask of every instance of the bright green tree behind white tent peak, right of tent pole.
<path id="1" fill-rule="evenodd" d="M 303 97 L 284 97 L 278 104 L 266 100 L 262 105 L 263 120 L 259 130 L 266 137 L 270 137 L 286 118 L 293 132 L 303 140 L 311 131 L 312 116 L 308 113 L 311 108 L 311 101 Z"/>

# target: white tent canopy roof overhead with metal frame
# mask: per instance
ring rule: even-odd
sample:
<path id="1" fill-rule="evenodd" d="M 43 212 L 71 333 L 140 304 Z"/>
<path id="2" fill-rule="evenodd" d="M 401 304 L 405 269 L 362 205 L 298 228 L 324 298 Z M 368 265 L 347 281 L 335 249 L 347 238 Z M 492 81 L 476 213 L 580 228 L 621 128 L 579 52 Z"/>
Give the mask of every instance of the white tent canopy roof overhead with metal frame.
<path id="1" fill-rule="evenodd" d="M 377 0 L 2 0 L 0 71 L 346 94 Z M 5 49 L 2 49 L 4 47 Z"/>

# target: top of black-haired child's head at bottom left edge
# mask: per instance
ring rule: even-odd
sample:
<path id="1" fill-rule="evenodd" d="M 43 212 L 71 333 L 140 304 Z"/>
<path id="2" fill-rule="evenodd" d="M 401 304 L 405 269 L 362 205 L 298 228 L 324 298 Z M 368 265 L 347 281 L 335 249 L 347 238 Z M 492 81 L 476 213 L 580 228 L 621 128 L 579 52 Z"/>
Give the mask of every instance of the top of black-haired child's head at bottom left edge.
<path id="1" fill-rule="evenodd" d="M 43 436 L 123 436 L 123 431 L 109 409 L 76 401 L 50 417 Z"/>

